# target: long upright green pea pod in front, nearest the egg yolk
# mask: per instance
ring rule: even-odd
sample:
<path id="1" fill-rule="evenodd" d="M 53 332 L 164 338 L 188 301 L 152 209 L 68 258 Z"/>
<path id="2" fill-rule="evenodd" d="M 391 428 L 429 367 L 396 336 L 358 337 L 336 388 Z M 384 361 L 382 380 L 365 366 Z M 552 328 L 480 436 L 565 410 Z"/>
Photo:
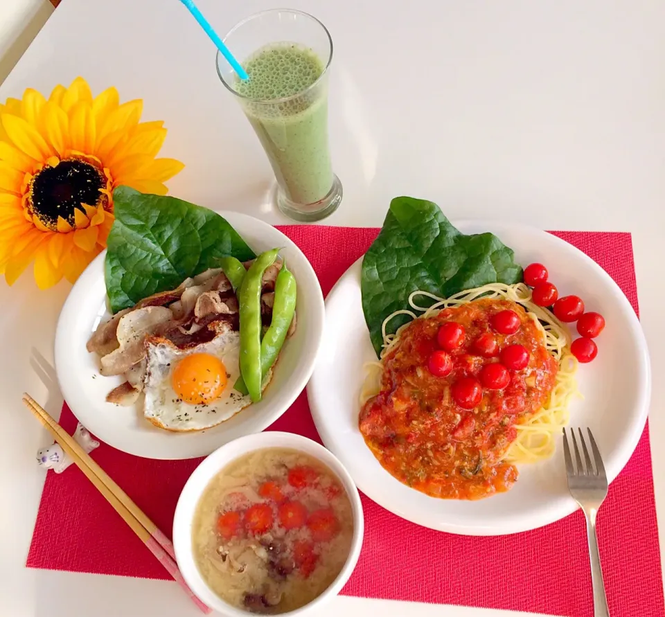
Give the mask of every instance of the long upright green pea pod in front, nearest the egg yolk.
<path id="1" fill-rule="evenodd" d="M 261 400 L 261 279 L 279 249 L 261 253 L 240 285 L 240 375 L 251 401 Z"/>

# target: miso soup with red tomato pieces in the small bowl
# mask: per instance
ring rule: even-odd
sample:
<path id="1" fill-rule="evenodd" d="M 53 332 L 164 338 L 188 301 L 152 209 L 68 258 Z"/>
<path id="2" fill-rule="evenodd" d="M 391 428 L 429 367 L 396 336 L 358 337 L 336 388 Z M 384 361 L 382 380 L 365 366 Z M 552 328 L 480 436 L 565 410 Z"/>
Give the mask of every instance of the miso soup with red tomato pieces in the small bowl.
<path id="1" fill-rule="evenodd" d="M 234 460 L 206 487 L 192 543 L 199 572 L 222 600 L 279 614 L 330 586 L 352 536 L 351 502 L 337 476 L 308 454 L 269 448 Z"/>

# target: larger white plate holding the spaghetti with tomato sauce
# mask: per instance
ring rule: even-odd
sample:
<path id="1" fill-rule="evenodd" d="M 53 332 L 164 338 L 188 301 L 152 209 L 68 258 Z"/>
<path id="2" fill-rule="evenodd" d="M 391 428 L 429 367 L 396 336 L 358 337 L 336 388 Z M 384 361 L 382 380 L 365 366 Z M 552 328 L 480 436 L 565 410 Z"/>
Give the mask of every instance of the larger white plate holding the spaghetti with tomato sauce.
<path id="1" fill-rule="evenodd" d="M 588 310 L 605 316 L 598 356 L 578 370 L 584 400 L 572 404 L 571 426 L 594 431 L 613 480 L 637 446 L 650 398 L 646 341 L 626 296 L 596 262 L 549 233 L 498 222 L 465 221 L 456 227 L 463 233 L 495 233 L 515 250 L 517 262 L 544 263 L 562 295 L 577 294 Z M 463 535 L 526 531 L 573 512 L 577 505 L 567 489 L 561 447 L 543 463 L 521 465 L 510 491 L 481 501 L 427 497 L 384 471 L 357 426 L 363 364 L 376 359 L 360 301 L 361 263 L 348 269 L 326 299 L 323 343 L 307 388 L 323 443 L 342 460 L 358 488 L 402 518 Z"/>

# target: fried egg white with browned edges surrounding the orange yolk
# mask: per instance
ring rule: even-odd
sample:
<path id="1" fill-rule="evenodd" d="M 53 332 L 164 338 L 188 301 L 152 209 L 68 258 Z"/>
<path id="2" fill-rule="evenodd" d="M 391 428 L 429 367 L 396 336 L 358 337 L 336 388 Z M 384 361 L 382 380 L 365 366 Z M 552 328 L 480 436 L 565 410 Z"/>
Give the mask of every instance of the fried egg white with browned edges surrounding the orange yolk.
<path id="1" fill-rule="evenodd" d="M 179 360 L 193 353 L 218 357 L 227 369 L 227 386 L 218 399 L 209 404 L 193 405 L 179 400 L 172 388 L 172 371 Z M 208 343 L 181 350 L 170 341 L 148 343 L 143 415 L 157 427 L 168 431 L 200 431 L 229 420 L 251 404 L 233 388 L 240 376 L 240 334 L 229 330 Z"/>

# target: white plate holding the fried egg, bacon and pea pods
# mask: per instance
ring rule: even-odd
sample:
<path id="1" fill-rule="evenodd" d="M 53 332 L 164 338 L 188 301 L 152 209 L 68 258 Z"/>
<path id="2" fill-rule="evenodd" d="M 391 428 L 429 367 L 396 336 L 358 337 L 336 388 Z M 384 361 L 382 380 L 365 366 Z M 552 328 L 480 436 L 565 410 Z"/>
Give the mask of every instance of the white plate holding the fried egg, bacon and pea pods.
<path id="1" fill-rule="evenodd" d="M 206 456 L 221 445 L 263 431 L 296 400 L 312 375 L 323 332 L 323 294 L 317 275 L 301 250 L 281 231 L 235 212 L 220 213 L 255 253 L 284 247 L 281 255 L 298 283 L 298 327 L 288 339 L 263 400 L 213 429 L 172 433 L 143 419 L 141 399 L 130 407 L 106 402 L 121 377 L 102 377 L 98 357 L 85 343 L 98 323 L 109 317 L 104 283 L 106 251 L 76 281 L 62 307 L 55 333 L 55 370 L 64 399 L 74 415 L 98 438 L 115 448 L 146 458 Z"/>

